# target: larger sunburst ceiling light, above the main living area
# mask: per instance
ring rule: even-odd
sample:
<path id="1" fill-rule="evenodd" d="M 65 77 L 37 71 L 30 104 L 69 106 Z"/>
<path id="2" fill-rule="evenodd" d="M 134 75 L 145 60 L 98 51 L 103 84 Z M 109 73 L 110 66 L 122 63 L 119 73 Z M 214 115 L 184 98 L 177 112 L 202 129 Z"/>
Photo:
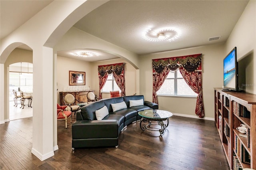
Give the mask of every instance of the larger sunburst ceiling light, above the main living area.
<path id="1" fill-rule="evenodd" d="M 163 40 L 167 41 L 174 41 L 181 35 L 181 32 L 175 28 L 164 28 L 164 29 L 158 29 L 158 30 L 151 30 L 148 29 L 142 37 L 145 40 L 151 41 L 151 42 L 159 42 Z"/>

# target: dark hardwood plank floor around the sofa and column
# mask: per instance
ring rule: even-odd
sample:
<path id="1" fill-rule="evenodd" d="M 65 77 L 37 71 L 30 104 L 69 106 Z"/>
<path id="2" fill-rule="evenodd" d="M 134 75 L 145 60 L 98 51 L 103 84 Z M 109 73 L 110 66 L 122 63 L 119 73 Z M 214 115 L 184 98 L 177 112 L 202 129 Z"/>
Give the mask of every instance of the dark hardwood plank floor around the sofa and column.
<path id="1" fill-rule="evenodd" d="M 73 116 L 73 120 L 75 117 Z M 31 153 L 32 117 L 0 125 L 0 169 L 228 170 L 214 121 L 173 116 L 162 138 L 159 132 L 129 125 L 118 148 L 71 150 L 71 124 L 58 121 L 54 156 L 40 161 Z"/>

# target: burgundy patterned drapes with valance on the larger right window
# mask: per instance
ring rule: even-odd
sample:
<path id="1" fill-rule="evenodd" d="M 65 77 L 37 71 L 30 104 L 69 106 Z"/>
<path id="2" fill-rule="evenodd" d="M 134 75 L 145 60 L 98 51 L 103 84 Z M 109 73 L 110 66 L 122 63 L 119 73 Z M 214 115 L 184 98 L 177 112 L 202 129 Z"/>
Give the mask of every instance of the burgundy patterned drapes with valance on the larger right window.
<path id="1" fill-rule="evenodd" d="M 152 66 L 154 103 L 158 103 L 156 92 L 160 89 L 169 71 L 179 69 L 186 83 L 195 93 L 198 94 L 195 111 L 196 115 L 198 115 L 200 118 L 204 117 L 202 92 L 202 54 L 153 59 Z M 158 73 L 158 77 L 156 76 L 156 73 Z"/>

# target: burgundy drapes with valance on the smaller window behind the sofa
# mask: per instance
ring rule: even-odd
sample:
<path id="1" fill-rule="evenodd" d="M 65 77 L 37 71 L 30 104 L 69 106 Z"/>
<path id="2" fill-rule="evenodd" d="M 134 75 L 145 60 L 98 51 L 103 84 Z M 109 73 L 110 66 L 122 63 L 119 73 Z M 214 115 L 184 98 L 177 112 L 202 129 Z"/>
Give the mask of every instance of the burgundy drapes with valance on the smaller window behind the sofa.
<path id="1" fill-rule="evenodd" d="M 99 98 L 100 99 L 102 99 L 101 90 L 106 83 L 108 75 L 112 73 L 115 78 L 116 84 L 121 89 L 121 96 L 125 96 L 124 65 L 125 63 L 116 63 L 116 64 L 98 66 L 99 86 L 100 86 Z"/>

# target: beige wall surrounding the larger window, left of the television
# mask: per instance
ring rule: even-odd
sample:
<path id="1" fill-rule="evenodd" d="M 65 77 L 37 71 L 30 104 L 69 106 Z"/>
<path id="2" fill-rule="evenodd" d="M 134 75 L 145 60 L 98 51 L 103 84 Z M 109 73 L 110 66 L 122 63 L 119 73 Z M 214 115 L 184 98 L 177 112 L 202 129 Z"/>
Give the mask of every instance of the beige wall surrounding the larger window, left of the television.
<path id="1" fill-rule="evenodd" d="M 182 49 L 170 52 L 140 56 L 140 92 L 145 99 L 152 101 L 152 59 L 176 57 L 202 53 L 202 85 L 205 117 L 214 118 L 214 87 L 223 84 L 223 58 L 225 50 L 223 44 L 206 45 L 201 47 Z M 188 117 L 195 115 L 196 98 L 159 96 L 159 109 L 182 114 Z"/>

